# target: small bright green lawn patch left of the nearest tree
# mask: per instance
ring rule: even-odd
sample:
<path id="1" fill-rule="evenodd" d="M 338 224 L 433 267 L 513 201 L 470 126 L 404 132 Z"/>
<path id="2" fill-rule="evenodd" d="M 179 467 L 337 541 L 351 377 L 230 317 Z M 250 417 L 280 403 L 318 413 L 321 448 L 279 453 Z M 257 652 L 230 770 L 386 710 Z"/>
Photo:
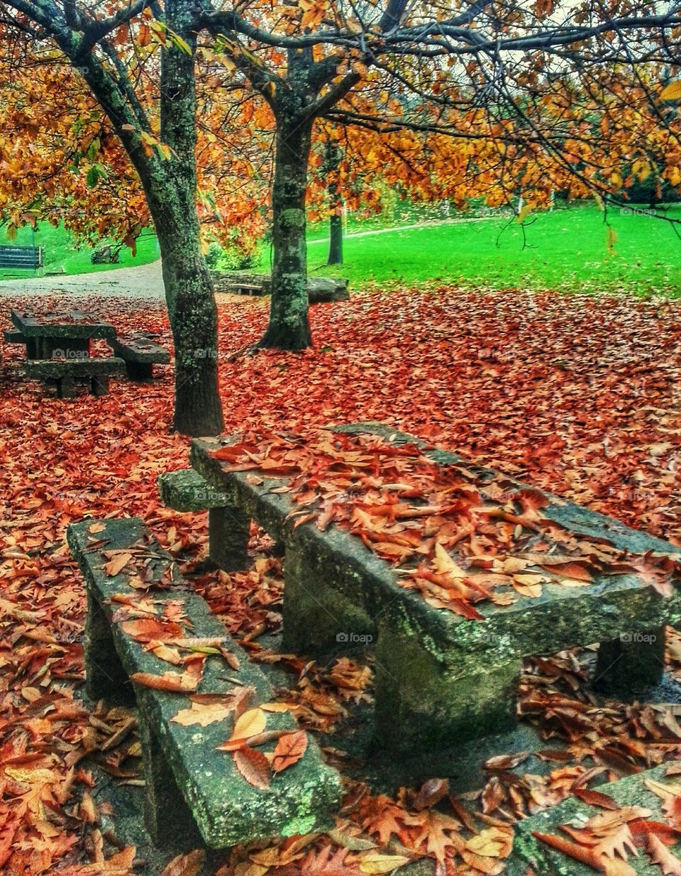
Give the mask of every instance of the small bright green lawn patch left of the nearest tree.
<path id="1" fill-rule="evenodd" d="M 80 244 L 74 240 L 70 232 L 62 227 L 54 228 L 49 223 L 38 223 L 35 232 L 30 227 L 20 228 L 15 240 L 9 240 L 4 229 L 0 230 L 0 244 L 6 246 L 42 246 L 45 250 L 45 272 L 63 272 L 67 274 L 91 273 L 109 271 L 116 267 L 131 267 L 132 265 L 147 265 L 158 258 L 156 237 L 148 232 L 137 241 L 137 254 L 133 258 L 130 250 L 121 250 L 119 265 L 93 265 L 90 261 L 93 247 Z M 15 271 L 10 268 L 0 268 L 2 277 L 32 277 L 32 271 Z"/>

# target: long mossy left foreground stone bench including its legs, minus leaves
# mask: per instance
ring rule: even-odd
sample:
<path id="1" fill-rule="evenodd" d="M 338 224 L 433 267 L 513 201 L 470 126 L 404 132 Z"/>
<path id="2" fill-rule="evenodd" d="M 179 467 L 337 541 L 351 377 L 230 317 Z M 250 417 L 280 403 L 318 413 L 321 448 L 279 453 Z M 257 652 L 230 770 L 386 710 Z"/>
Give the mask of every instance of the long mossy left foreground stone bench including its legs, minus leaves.
<path id="1" fill-rule="evenodd" d="M 186 618 L 184 635 L 223 639 L 223 646 L 238 661 L 239 668 L 234 668 L 213 649 L 206 658 L 199 694 L 227 695 L 242 686 L 253 689 L 249 708 L 271 701 L 272 689 L 263 672 L 249 663 L 246 653 L 229 638 L 206 602 L 182 582 L 172 557 L 151 537 L 142 520 L 82 520 L 68 527 L 67 542 L 88 591 L 88 696 L 120 698 L 123 689 L 130 689 L 130 675 L 163 675 L 168 670 L 182 669 L 145 650 L 114 618 L 115 613 L 120 618 L 122 597 L 139 597 L 141 591 L 130 586 L 129 572 L 107 574 L 109 559 L 104 552 L 130 551 L 130 566 L 137 575 L 145 569 L 152 583 L 163 582 L 162 589 L 149 591 L 154 603 L 159 607 L 172 604 L 177 609 L 181 602 L 182 617 Z M 233 731 L 234 713 L 205 727 L 185 726 L 172 719 L 192 706 L 189 695 L 137 682 L 132 687 L 143 749 L 145 821 L 158 845 L 176 843 L 182 837 L 194 847 L 198 829 L 209 847 L 223 849 L 324 830 L 333 823 L 333 813 L 340 806 L 340 779 L 326 767 L 312 739 L 298 763 L 276 774 L 269 788 L 256 788 L 237 771 L 230 754 L 216 751 Z M 268 713 L 267 729 L 295 731 L 297 724 L 288 712 Z"/>

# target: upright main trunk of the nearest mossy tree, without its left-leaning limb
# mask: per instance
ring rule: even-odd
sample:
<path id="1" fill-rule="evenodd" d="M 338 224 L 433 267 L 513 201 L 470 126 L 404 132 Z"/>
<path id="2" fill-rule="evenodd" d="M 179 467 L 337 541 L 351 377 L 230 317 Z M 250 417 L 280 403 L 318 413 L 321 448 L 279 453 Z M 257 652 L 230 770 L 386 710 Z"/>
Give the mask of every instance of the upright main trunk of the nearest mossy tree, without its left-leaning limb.
<path id="1" fill-rule="evenodd" d="M 191 4 L 167 0 L 166 23 L 191 47 L 171 39 L 161 60 L 161 141 L 171 155 L 145 186 L 158 234 L 165 300 L 175 345 L 174 427 L 214 435 L 224 428 L 218 386 L 217 307 L 201 253 L 196 212 L 196 91 Z"/>

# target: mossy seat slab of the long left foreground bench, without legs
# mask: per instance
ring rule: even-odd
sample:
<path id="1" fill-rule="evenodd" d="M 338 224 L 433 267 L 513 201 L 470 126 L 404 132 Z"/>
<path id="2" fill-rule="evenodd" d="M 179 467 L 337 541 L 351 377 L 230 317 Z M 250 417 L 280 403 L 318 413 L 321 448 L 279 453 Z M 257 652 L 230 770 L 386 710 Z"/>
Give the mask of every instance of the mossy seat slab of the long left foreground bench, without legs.
<path id="1" fill-rule="evenodd" d="M 67 541 L 81 566 L 88 590 L 102 605 L 109 621 L 113 611 L 111 598 L 133 590 L 125 574 L 106 575 L 107 561 L 99 542 L 105 540 L 103 549 L 108 550 L 133 546 L 139 550 L 145 546 L 154 578 L 160 579 L 169 570 L 176 582 L 170 590 L 155 590 L 154 598 L 161 604 L 181 599 L 183 611 L 193 624 L 192 635 L 224 637 L 225 645 L 239 660 L 240 668 L 235 671 L 221 657 L 208 656 L 199 692 L 224 693 L 240 683 L 256 689 L 255 703 L 270 701 L 270 683 L 261 670 L 250 663 L 247 654 L 230 639 L 204 600 L 185 589 L 172 558 L 149 537 L 143 521 L 137 518 L 104 520 L 105 528 L 101 532 L 90 533 L 93 522 L 89 519 L 69 526 Z M 95 548 L 90 547 L 93 542 Z M 145 651 L 140 643 L 123 633 L 118 624 L 112 625 L 112 631 L 116 651 L 129 675 L 136 672 L 162 675 L 172 668 Z M 140 685 L 135 685 L 135 689 L 142 720 L 158 735 L 174 780 L 207 845 L 215 849 L 228 848 L 260 839 L 322 830 L 333 823 L 333 814 L 340 806 L 340 778 L 323 762 L 312 740 L 303 759 L 277 774 L 269 789 L 255 788 L 237 772 L 228 753 L 216 751 L 231 735 L 234 724 L 231 717 L 205 728 L 185 727 L 173 722 L 172 717 L 190 707 L 187 696 Z M 268 715 L 268 729 L 294 730 L 296 727 L 288 713 Z"/>

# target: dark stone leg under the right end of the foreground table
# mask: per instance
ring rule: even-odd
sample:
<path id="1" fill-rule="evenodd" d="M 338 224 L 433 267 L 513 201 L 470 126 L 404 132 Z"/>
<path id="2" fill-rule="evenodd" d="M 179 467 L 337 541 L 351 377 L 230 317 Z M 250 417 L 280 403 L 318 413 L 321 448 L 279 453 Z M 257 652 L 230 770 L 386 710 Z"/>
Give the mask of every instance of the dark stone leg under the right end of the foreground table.
<path id="1" fill-rule="evenodd" d="M 593 687 L 606 694 L 635 694 L 660 682 L 664 671 L 664 627 L 622 633 L 601 642 Z"/>

